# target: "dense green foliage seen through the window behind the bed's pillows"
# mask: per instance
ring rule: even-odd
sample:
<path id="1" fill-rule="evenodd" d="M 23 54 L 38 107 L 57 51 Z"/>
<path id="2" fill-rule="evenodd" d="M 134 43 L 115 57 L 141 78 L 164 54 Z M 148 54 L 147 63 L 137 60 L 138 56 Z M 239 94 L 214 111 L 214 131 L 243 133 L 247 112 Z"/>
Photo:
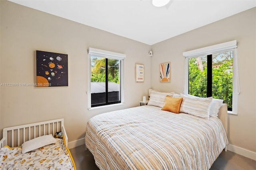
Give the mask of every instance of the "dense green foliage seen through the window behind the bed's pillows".
<path id="1" fill-rule="evenodd" d="M 188 93 L 193 96 L 206 97 L 207 61 L 206 56 L 200 58 L 200 62 L 196 57 L 189 59 Z M 212 97 L 223 99 L 229 108 L 232 108 L 232 63 L 232 51 L 212 55 Z"/>

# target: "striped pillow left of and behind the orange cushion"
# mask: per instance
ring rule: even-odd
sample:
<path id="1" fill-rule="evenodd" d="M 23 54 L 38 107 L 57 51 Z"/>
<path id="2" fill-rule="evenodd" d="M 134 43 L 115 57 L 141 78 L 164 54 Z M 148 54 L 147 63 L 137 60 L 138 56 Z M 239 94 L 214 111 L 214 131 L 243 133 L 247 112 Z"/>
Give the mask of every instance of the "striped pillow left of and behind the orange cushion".
<path id="1" fill-rule="evenodd" d="M 173 96 L 174 92 L 166 93 L 166 92 L 154 92 L 151 91 L 150 93 L 150 99 L 148 101 L 148 105 L 151 106 L 158 106 L 158 107 L 164 107 L 164 102 L 166 96 Z"/>

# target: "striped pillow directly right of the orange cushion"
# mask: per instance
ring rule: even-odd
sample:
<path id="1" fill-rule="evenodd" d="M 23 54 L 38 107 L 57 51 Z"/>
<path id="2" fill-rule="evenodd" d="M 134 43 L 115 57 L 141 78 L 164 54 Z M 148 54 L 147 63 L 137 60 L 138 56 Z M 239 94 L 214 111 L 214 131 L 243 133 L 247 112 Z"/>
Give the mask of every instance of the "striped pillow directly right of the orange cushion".
<path id="1" fill-rule="evenodd" d="M 208 118 L 210 116 L 210 104 L 212 102 L 212 97 L 210 98 L 188 98 L 184 94 L 180 94 L 183 98 L 180 105 L 180 112 L 188 113 L 197 117 Z"/>

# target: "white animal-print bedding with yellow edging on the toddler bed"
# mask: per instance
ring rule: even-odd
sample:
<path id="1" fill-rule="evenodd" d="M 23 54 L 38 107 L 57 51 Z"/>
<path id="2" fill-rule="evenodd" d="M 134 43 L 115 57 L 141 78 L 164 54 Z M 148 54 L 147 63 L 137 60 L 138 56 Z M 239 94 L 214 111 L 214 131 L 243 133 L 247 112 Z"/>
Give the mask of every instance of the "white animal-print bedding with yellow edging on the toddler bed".
<path id="1" fill-rule="evenodd" d="M 21 147 L 2 147 L 1 170 L 76 170 L 73 158 L 62 139 L 56 143 L 22 154 Z"/>

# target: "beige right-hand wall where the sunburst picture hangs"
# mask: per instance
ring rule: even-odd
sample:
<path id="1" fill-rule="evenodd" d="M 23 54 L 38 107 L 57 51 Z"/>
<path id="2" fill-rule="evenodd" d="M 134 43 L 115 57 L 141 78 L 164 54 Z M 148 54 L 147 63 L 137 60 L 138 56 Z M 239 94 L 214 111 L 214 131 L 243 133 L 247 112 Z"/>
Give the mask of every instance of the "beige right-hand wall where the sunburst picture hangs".
<path id="1" fill-rule="evenodd" d="M 231 145 L 256 152 L 256 8 L 194 29 L 152 45 L 151 86 L 153 89 L 182 93 L 184 88 L 184 51 L 227 41 L 238 41 L 241 93 L 238 115 L 228 116 Z M 159 64 L 171 62 L 171 82 L 159 82 Z"/>

